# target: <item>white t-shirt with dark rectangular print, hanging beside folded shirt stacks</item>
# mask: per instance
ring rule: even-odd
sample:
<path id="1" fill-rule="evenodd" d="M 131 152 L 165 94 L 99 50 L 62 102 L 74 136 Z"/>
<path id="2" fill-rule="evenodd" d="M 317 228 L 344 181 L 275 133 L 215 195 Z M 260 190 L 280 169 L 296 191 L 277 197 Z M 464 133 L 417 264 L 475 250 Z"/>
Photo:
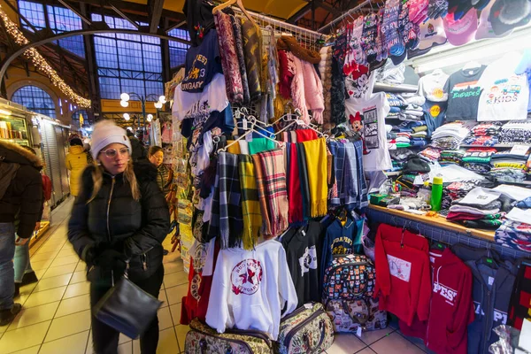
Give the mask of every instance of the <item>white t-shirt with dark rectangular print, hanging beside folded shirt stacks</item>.
<path id="1" fill-rule="evenodd" d="M 347 117 L 355 117 L 359 112 L 363 121 L 363 139 L 368 154 L 363 156 L 365 171 L 389 170 L 391 158 L 389 156 L 385 118 L 390 107 L 384 92 L 379 92 L 365 101 L 345 100 Z"/>

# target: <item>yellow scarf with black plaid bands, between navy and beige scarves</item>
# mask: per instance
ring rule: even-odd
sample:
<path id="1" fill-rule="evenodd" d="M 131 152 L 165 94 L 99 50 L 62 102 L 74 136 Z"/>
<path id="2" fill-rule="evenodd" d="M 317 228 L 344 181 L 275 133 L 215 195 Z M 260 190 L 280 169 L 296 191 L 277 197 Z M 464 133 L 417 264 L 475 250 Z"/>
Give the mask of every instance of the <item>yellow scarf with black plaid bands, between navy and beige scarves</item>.
<path id="1" fill-rule="evenodd" d="M 238 156 L 240 186 L 242 187 L 243 249 L 252 250 L 262 226 L 254 165 L 249 155 Z"/>

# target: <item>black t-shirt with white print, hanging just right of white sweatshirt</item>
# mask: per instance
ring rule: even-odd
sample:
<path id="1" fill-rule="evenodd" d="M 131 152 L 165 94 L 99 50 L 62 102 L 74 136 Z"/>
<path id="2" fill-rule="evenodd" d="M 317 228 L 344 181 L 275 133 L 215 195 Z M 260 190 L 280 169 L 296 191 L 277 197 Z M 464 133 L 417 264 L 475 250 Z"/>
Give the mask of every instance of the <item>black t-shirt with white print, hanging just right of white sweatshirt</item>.
<path id="1" fill-rule="evenodd" d="M 296 289 L 297 307 L 311 301 L 320 301 L 319 291 L 319 221 L 310 221 L 304 227 L 291 227 L 282 235 L 289 273 Z"/>

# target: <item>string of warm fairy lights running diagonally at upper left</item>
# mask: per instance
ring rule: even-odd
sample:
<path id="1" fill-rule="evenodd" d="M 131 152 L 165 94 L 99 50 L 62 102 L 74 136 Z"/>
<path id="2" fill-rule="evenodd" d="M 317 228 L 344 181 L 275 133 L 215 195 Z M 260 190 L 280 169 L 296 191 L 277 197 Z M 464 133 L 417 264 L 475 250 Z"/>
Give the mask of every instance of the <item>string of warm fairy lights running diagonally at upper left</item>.
<path id="1" fill-rule="evenodd" d="M 17 27 L 17 25 L 11 19 L 9 19 L 9 17 L 7 17 L 7 14 L 2 9 L 2 6 L 0 6 L 0 19 L 4 21 L 4 27 L 7 33 L 12 36 L 12 39 L 19 46 L 29 43 L 29 40 L 25 35 L 22 34 L 22 32 L 19 30 L 19 27 Z M 72 101 L 74 104 L 77 104 L 81 108 L 90 107 L 91 101 L 76 94 L 73 89 L 63 79 L 61 79 L 61 77 L 58 75 L 58 72 L 51 67 L 48 61 L 42 57 L 38 50 L 35 50 L 35 48 L 30 48 L 24 52 L 24 57 L 31 60 L 37 70 L 48 76 L 53 86 L 57 87 L 63 94 L 65 94 L 70 101 Z"/>

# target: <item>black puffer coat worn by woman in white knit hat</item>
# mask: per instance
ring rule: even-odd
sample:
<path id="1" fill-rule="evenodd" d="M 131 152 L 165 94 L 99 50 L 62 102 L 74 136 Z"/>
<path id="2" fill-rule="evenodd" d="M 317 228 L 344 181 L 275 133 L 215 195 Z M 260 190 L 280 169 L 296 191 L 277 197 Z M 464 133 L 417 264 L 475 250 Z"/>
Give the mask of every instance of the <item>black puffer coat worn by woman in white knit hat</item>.
<path id="1" fill-rule="evenodd" d="M 104 173 L 102 188 L 87 204 L 92 196 L 95 168 L 91 165 L 82 174 L 81 192 L 68 223 L 68 239 L 83 260 L 89 247 L 95 245 L 124 253 L 130 259 L 129 279 L 146 279 L 162 266 L 162 242 L 170 225 L 168 206 L 156 182 L 157 169 L 147 162 L 135 164 L 140 201 L 133 199 L 123 173 L 115 177 Z M 107 283 L 111 281 L 111 272 L 89 267 L 88 279 Z"/>

